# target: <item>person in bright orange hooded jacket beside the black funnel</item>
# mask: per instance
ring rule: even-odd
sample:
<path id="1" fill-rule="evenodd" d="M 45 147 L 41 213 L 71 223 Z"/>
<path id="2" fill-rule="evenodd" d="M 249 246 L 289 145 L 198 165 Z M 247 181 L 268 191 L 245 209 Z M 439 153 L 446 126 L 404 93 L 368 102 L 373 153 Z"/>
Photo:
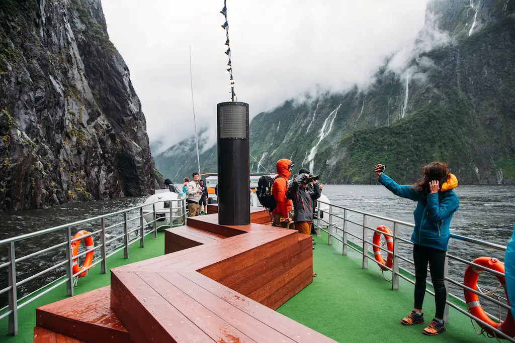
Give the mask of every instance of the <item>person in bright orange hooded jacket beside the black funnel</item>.
<path id="1" fill-rule="evenodd" d="M 288 190 L 288 178 L 293 167 L 293 162 L 287 158 L 281 158 L 276 164 L 279 176 L 273 180 L 272 184 L 272 194 L 276 200 L 276 208 L 272 211 L 274 226 L 289 228 L 291 219 L 288 217 L 288 213 L 291 211 L 291 200 L 286 198 L 286 191 Z"/>

